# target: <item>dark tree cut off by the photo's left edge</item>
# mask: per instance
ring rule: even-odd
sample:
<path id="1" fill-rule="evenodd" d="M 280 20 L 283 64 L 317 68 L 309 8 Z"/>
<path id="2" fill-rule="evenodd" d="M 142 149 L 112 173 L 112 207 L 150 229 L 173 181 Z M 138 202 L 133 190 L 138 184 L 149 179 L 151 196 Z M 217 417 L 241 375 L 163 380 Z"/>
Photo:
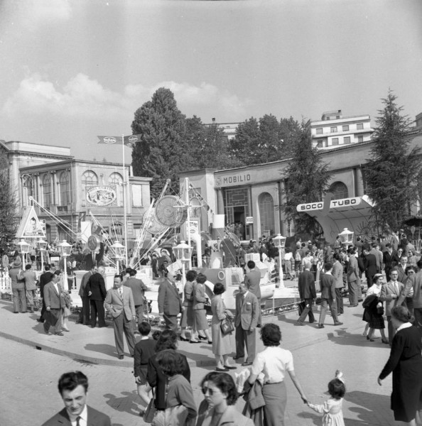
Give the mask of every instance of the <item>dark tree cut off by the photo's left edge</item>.
<path id="1" fill-rule="evenodd" d="M 15 239 L 18 228 L 16 194 L 11 189 L 9 163 L 6 155 L 0 154 L 0 251 Z"/>

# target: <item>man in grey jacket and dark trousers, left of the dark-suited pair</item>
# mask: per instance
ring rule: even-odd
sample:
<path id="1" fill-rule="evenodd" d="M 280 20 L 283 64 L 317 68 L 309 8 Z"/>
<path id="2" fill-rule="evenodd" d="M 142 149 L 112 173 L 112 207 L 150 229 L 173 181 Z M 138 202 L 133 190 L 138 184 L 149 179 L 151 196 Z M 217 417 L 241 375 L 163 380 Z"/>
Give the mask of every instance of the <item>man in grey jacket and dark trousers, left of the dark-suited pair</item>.
<path id="1" fill-rule="evenodd" d="M 63 336 L 62 333 L 62 308 L 64 300 L 62 298 L 62 271 L 54 271 L 53 278 L 50 283 L 44 286 L 43 299 L 45 300 L 45 322 L 43 324 L 44 331 L 50 334 L 50 327 L 53 325 L 54 334 Z M 56 320 L 53 324 L 53 318 Z"/>

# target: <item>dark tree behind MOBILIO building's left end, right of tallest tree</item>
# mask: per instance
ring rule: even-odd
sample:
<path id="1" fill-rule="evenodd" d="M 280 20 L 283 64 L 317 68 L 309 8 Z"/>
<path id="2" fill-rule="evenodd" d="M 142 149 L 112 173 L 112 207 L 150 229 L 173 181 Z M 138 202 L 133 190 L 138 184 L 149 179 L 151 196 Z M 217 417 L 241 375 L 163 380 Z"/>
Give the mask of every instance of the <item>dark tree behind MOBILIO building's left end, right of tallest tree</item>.
<path id="1" fill-rule="evenodd" d="M 188 147 L 186 168 L 234 168 L 242 163 L 229 152 L 223 129 L 217 124 L 204 126 L 197 116 L 186 119 L 185 145 Z M 185 170 L 186 170 L 185 168 Z"/>

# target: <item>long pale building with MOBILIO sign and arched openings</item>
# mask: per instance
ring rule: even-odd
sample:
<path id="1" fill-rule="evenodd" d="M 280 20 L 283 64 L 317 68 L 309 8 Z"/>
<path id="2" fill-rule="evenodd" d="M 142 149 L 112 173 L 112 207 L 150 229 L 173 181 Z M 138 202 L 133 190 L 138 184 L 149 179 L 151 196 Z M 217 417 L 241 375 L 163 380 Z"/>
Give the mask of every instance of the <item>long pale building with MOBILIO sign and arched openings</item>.
<path id="1" fill-rule="evenodd" d="M 319 151 L 331 174 L 329 191 L 333 200 L 365 195 L 364 170 L 365 163 L 371 157 L 372 144 L 372 141 L 346 143 Z M 411 132 L 413 146 L 422 147 L 422 130 Z M 202 231 L 210 229 L 213 214 L 225 214 L 226 224 L 243 225 L 243 239 L 257 239 L 264 234 L 277 233 L 293 236 L 294 226 L 283 214 L 283 174 L 289 162 L 286 159 L 230 170 L 206 169 L 182 173 L 180 181 L 189 178 L 195 192 L 199 192 L 210 207 L 207 214 L 202 214 Z M 312 179 L 312 170 L 309 170 L 309 178 Z M 416 214 L 420 209 L 419 201 L 412 207 L 412 213 Z"/>

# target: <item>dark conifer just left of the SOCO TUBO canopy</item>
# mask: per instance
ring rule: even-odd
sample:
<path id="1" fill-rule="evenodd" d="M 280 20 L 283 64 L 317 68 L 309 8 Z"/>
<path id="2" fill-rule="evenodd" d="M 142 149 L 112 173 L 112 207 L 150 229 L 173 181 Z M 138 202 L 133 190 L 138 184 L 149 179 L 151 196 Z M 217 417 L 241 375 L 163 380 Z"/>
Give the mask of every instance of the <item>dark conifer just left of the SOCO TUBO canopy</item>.
<path id="1" fill-rule="evenodd" d="M 294 143 L 293 158 L 282 173 L 286 179 L 283 212 L 293 220 L 296 231 L 315 235 L 320 228 L 315 218 L 296 211 L 298 204 L 320 201 L 330 180 L 328 165 L 323 163 L 310 137 L 310 121 L 302 122 Z"/>

